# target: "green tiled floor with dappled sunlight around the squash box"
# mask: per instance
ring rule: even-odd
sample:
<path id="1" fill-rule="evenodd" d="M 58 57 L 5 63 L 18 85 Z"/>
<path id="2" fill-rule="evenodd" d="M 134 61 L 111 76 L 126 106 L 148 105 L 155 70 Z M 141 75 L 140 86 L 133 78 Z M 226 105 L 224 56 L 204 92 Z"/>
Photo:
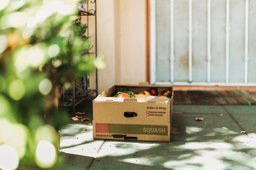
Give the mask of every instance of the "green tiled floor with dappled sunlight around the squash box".
<path id="1" fill-rule="evenodd" d="M 254 170 L 255 106 L 173 106 L 171 142 L 93 140 L 91 99 L 77 110 L 90 121 L 61 129 L 62 169 L 74 170 Z M 223 115 L 222 115 L 223 114 Z M 195 117 L 203 117 L 195 121 Z M 244 129 L 247 134 L 241 134 Z"/>

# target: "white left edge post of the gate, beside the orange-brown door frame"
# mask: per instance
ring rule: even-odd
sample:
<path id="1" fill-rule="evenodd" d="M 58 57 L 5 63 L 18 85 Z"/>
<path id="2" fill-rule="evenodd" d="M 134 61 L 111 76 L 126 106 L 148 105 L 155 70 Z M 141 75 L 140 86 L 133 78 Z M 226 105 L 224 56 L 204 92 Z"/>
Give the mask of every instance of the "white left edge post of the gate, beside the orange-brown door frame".
<path id="1" fill-rule="evenodd" d="M 150 0 L 150 80 L 156 83 L 156 0 Z"/>

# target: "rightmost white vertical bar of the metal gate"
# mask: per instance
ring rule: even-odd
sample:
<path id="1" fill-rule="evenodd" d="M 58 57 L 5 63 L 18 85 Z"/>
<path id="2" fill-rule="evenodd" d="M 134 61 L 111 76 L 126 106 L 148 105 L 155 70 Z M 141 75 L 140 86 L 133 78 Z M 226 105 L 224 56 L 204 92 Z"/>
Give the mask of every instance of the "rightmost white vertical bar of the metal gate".
<path id="1" fill-rule="evenodd" d="M 245 83 L 247 83 L 248 81 L 248 61 L 249 61 L 249 57 L 248 57 L 248 10 L 249 10 L 249 0 L 245 0 L 246 1 L 246 8 L 245 8 L 245 58 L 244 58 L 244 62 L 245 62 Z"/>

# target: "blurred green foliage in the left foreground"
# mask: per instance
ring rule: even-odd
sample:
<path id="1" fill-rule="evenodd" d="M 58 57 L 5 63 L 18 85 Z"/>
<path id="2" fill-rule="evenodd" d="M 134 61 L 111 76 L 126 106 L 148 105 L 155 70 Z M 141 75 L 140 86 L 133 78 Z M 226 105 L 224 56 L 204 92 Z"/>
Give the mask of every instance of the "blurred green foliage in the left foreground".
<path id="1" fill-rule="evenodd" d="M 103 56 L 86 55 L 91 43 L 74 15 L 78 0 L 66 2 L 0 1 L 0 154 L 13 154 L 0 169 L 53 167 L 56 129 L 67 123 L 57 110 L 57 85 L 105 67 Z"/>

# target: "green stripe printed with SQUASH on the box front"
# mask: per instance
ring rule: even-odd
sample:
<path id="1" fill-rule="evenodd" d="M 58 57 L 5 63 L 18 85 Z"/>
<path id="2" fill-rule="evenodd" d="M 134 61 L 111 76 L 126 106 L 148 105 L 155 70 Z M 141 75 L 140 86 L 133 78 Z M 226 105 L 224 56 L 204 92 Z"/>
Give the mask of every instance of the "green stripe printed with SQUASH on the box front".
<path id="1" fill-rule="evenodd" d="M 109 124 L 109 133 L 168 136 L 168 126 Z"/>

